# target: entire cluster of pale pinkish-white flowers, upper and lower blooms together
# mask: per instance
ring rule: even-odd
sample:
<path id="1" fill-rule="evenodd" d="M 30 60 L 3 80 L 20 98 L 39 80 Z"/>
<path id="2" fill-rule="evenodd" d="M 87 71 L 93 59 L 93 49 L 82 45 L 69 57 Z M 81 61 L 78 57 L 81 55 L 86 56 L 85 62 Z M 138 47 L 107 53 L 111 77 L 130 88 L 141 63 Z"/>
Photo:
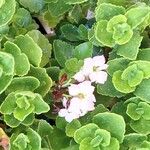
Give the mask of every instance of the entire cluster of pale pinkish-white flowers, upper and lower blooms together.
<path id="1" fill-rule="evenodd" d="M 74 79 L 79 84 L 71 84 L 68 87 L 69 99 L 63 98 L 64 108 L 59 111 L 60 117 L 65 117 L 66 121 L 84 116 L 88 111 L 94 110 L 96 102 L 93 94 L 95 87 L 92 82 L 104 84 L 107 80 L 107 68 L 104 56 L 86 58 L 81 70 L 74 75 Z"/>

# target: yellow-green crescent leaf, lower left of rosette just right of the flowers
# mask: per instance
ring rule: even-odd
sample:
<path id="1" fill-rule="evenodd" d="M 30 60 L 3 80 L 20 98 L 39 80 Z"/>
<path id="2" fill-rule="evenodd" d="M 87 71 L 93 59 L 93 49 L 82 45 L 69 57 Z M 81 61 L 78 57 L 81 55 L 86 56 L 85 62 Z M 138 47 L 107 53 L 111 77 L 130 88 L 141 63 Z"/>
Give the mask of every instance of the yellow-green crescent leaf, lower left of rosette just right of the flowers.
<path id="1" fill-rule="evenodd" d="M 135 87 L 130 87 L 127 80 L 123 80 L 121 78 L 122 71 L 116 71 L 113 74 L 112 82 L 114 84 L 114 87 L 122 93 L 131 93 L 135 90 Z"/>

